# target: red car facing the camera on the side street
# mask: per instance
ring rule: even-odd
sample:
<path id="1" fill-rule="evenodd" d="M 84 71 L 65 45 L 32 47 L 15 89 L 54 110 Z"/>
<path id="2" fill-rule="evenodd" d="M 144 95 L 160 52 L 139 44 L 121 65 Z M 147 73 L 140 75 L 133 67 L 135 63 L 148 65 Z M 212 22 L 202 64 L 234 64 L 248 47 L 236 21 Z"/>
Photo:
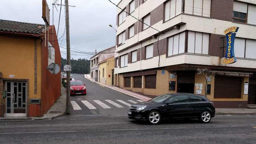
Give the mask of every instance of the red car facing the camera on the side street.
<path id="1" fill-rule="evenodd" d="M 70 81 L 70 95 L 86 95 L 86 87 L 82 81 Z"/>

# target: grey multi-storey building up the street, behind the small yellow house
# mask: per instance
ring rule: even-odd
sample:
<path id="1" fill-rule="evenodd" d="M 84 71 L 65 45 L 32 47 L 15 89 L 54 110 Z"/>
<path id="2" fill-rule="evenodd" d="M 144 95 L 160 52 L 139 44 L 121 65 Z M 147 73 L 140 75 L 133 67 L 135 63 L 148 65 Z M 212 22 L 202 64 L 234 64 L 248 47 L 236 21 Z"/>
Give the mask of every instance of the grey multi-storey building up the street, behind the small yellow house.
<path id="1" fill-rule="evenodd" d="M 102 62 L 114 56 L 115 47 L 104 49 L 90 58 L 90 77 L 95 81 L 99 81 L 99 62 Z"/>

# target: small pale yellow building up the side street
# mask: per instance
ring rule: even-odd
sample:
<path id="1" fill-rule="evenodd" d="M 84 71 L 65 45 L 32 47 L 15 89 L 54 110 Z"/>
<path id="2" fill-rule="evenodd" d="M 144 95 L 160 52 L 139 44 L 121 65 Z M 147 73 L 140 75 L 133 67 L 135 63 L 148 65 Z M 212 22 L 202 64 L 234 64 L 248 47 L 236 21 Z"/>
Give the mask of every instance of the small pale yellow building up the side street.
<path id="1" fill-rule="evenodd" d="M 99 82 L 109 86 L 114 85 L 114 64 L 114 56 L 98 63 Z"/>

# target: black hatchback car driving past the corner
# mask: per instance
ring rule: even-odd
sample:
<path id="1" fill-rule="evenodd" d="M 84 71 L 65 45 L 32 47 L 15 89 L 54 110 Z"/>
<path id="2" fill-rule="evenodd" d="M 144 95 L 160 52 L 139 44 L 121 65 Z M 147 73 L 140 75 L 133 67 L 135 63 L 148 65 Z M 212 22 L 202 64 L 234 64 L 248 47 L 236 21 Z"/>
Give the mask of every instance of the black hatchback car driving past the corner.
<path id="1" fill-rule="evenodd" d="M 202 123 L 209 123 L 215 116 L 213 102 L 205 96 L 191 93 L 168 93 L 147 102 L 133 104 L 128 116 L 134 120 L 147 120 L 157 125 L 162 119 L 197 118 Z"/>

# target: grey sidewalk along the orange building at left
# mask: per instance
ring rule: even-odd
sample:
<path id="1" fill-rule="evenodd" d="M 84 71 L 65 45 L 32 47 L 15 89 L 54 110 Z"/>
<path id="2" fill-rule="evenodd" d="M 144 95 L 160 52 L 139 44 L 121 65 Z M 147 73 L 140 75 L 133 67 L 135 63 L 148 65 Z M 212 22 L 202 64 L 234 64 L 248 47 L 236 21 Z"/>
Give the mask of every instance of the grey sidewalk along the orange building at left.
<path id="1" fill-rule="evenodd" d="M 54 103 L 53 106 L 47 111 L 46 114 L 44 114 L 43 117 L 4 117 L 0 118 L 0 120 L 5 119 L 34 119 L 34 120 L 43 120 L 43 119 L 50 119 L 55 118 L 57 116 L 60 116 L 65 113 L 66 110 L 66 90 L 61 84 L 61 96 L 57 100 L 56 103 Z"/>

